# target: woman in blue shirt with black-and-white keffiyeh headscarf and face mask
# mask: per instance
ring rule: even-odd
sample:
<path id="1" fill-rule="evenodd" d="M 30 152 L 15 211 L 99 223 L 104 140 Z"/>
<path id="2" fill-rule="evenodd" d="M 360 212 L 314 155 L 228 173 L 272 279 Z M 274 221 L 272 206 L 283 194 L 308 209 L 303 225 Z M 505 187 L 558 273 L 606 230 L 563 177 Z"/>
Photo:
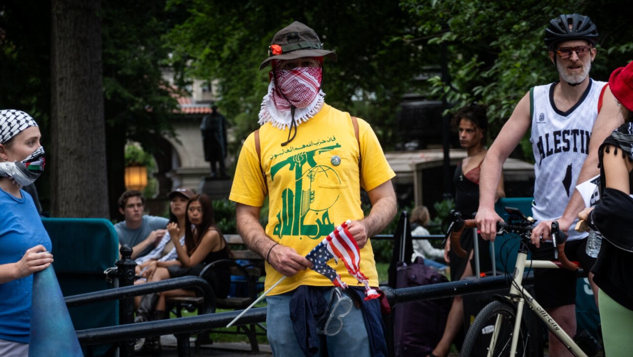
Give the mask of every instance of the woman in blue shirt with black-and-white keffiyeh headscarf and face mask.
<path id="1" fill-rule="evenodd" d="M 33 273 L 53 262 L 51 239 L 22 186 L 44 169 L 37 123 L 0 111 L 0 356 L 28 356 Z"/>

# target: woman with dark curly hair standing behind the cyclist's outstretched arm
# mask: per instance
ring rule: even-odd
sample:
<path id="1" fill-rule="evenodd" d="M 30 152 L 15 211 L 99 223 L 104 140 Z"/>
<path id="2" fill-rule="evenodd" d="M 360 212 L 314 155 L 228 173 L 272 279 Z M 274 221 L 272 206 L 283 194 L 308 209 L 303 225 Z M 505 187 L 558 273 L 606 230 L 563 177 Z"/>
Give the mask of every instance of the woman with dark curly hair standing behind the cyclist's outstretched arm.
<path id="1" fill-rule="evenodd" d="M 453 183 L 455 185 L 455 209 L 460 211 L 464 218 L 470 219 L 479 207 L 479 167 L 486 156 L 487 149 L 484 146 L 488 118 L 486 106 L 477 103 L 463 107 L 451 121 L 453 129 L 460 135 L 460 145 L 467 150 L 466 158 L 457 164 Z M 503 192 L 503 177 L 499 181 L 497 198 L 505 197 Z M 479 237 L 479 262 L 482 272 L 492 268 L 490 257 L 490 242 Z M 473 230 L 465 229 L 461 236 L 461 246 L 470 255 L 461 258 L 451 251 L 451 242 L 446 241 L 444 248 L 444 260 L 450 263 L 451 281 L 461 280 L 473 275 Z M 446 356 L 451 348 L 451 343 L 458 334 L 463 324 L 463 300 L 461 296 L 453 299 L 453 305 L 448 313 L 446 328 L 442 339 L 437 344 L 433 353 L 429 356 Z"/>

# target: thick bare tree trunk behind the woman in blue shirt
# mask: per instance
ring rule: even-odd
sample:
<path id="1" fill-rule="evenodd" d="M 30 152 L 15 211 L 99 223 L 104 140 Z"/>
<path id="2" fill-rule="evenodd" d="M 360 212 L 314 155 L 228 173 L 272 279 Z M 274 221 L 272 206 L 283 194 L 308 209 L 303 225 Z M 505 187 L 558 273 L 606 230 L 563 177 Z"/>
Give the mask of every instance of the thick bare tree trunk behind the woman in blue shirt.
<path id="1" fill-rule="evenodd" d="M 100 0 L 53 0 L 51 213 L 109 217 Z"/>

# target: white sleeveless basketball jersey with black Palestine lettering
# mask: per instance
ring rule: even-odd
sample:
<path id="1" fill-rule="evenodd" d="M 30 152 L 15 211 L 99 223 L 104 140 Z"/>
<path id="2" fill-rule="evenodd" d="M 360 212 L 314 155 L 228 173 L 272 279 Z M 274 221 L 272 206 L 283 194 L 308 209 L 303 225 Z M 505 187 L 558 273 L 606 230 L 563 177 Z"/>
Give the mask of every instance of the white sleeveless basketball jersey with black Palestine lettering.
<path id="1" fill-rule="evenodd" d="M 554 105 L 555 83 L 530 88 L 532 151 L 534 152 L 534 202 L 532 214 L 539 221 L 558 219 L 572 197 L 580 168 L 589 154 L 591 130 L 598 116 L 598 101 L 606 82 L 589 80 L 580 100 L 567 112 Z M 573 222 L 569 239 L 582 239 Z"/>

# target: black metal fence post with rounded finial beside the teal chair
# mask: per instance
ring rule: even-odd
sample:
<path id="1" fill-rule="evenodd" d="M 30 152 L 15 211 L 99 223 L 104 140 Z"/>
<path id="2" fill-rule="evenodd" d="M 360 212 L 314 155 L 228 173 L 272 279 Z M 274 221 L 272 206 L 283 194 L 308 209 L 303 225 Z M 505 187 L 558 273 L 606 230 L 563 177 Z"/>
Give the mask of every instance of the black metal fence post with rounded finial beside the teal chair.
<path id="1" fill-rule="evenodd" d="M 134 285 L 136 262 L 132 260 L 132 248 L 128 245 L 121 247 L 121 260 L 115 263 L 118 269 L 119 286 Z M 119 300 L 119 325 L 134 323 L 134 297 Z M 120 356 L 134 356 L 134 340 L 122 342 Z"/>

